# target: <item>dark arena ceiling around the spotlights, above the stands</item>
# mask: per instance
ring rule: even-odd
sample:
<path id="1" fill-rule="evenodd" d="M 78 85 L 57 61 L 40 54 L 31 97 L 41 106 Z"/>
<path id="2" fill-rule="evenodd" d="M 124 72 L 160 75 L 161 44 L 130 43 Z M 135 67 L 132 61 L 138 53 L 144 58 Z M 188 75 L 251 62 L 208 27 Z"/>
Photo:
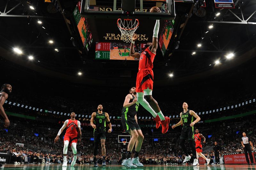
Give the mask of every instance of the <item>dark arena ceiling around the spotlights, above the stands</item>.
<path id="1" fill-rule="evenodd" d="M 50 77 L 83 84 L 118 85 L 116 82 L 121 80 L 123 84 L 133 85 L 138 61 L 95 60 L 95 41 L 104 42 L 104 37 L 99 36 L 104 34 L 104 26 L 99 28 L 100 21 L 93 23 L 90 20 L 97 29 L 92 26 L 92 38 L 95 40 L 87 52 L 79 40 L 77 27 L 71 22 L 72 11 L 78 1 L 57 2 L 61 8 L 59 11 L 44 0 L 0 2 L 1 63 L 8 60 L 21 65 L 20 69 L 26 67 Z M 176 13 L 183 27 L 177 29 L 177 36 L 167 55 L 163 56 L 159 49 L 157 51 L 154 61 L 156 85 L 178 84 L 221 73 L 245 62 L 252 64 L 248 61 L 256 54 L 256 25 L 253 24 L 256 23 L 256 1 L 234 2 L 235 9 L 217 9 L 213 0 L 206 0 L 206 7 L 192 16 L 189 14 L 192 4 L 176 3 Z M 106 1 L 100 3 L 102 6 L 107 4 Z M 35 10 L 31 10 L 30 5 Z M 216 16 L 218 12 L 220 15 Z M 42 24 L 38 23 L 39 20 Z M 247 21 L 243 23 L 241 20 Z M 212 29 L 209 29 L 210 25 Z M 153 26 L 145 30 L 149 37 Z M 113 25 L 113 29 L 116 28 Z M 202 44 L 200 48 L 198 43 Z M 14 53 L 15 47 L 19 47 L 23 54 Z M 193 52 L 196 54 L 192 55 Z M 226 58 L 229 53 L 234 53 L 233 59 Z M 30 55 L 34 57 L 31 61 L 28 60 Z M 215 64 L 216 60 L 220 61 L 219 65 Z M 83 73 L 82 76 L 77 75 L 78 71 Z M 170 73 L 174 75 L 172 78 Z"/>

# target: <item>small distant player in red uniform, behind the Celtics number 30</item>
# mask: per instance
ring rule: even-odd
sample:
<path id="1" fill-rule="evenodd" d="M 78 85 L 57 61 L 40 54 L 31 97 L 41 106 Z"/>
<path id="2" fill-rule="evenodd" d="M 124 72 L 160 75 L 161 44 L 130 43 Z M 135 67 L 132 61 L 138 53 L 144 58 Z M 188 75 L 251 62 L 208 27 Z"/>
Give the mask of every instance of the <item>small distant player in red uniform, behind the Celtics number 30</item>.
<path id="1" fill-rule="evenodd" d="M 211 159 L 207 159 L 204 156 L 204 154 L 202 153 L 203 151 L 202 151 L 201 141 L 202 141 L 202 138 L 203 138 L 204 139 L 203 143 L 205 144 L 205 137 L 202 134 L 198 133 L 198 132 L 199 132 L 199 130 L 196 129 L 196 134 L 194 135 L 195 143 L 196 143 L 196 158 L 197 158 L 197 160 L 199 160 L 198 155 L 200 155 L 202 158 L 204 158 L 206 160 L 207 165 L 209 165 Z M 197 165 L 199 165 L 199 163 L 197 163 Z"/>

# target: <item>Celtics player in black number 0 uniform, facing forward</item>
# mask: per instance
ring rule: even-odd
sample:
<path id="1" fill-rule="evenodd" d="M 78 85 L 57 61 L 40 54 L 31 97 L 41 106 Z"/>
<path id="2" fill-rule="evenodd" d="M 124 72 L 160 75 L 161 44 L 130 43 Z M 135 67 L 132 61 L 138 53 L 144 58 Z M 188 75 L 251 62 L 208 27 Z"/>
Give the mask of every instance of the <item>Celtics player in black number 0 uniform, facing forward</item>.
<path id="1" fill-rule="evenodd" d="M 93 150 L 93 163 L 95 167 L 98 167 L 97 165 L 97 154 L 98 154 L 98 144 L 101 143 L 101 153 L 103 157 L 102 166 L 106 166 L 106 147 L 105 147 L 105 141 L 106 141 L 106 123 L 108 124 L 108 133 L 111 133 L 112 131 L 112 125 L 109 120 L 109 115 L 106 112 L 103 112 L 103 106 L 98 105 L 98 112 L 92 113 L 91 118 L 91 126 L 93 127 L 93 137 L 94 137 L 94 150 Z"/>

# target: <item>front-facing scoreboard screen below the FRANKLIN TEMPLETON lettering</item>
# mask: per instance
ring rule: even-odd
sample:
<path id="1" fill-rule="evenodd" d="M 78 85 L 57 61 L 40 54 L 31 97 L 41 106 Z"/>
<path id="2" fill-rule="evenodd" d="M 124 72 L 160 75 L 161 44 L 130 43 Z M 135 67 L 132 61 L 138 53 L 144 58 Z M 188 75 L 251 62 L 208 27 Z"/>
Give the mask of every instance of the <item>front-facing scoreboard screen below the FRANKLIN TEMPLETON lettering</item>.
<path id="1" fill-rule="evenodd" d="M 95 59 L 105 60 L 135 60 L 129 56 L 131 43 L 120 42 L 96 42 Z M 134 44 L 135 52 L 141 53 L 146 44 Z M 137 59 L 136 59 L 137 60 Z"/>

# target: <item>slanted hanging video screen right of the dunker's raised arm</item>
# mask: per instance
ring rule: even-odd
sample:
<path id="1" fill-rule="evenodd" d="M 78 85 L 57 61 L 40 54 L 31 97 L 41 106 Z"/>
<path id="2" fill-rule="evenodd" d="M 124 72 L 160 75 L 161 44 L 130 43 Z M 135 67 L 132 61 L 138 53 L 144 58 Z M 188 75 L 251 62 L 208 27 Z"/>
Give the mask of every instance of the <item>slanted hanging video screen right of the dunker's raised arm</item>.
<path id="1" fill-rule="evenodd" d="M 161 36 L 159 37 L 159 40 L 158 40 L 158 44 L 163 56 L 165 55 L 166 49 L 172 37 L 173 25 L 174 25 L 174 20 L 164 21 L 164 28 L 161 31 Z"/>

